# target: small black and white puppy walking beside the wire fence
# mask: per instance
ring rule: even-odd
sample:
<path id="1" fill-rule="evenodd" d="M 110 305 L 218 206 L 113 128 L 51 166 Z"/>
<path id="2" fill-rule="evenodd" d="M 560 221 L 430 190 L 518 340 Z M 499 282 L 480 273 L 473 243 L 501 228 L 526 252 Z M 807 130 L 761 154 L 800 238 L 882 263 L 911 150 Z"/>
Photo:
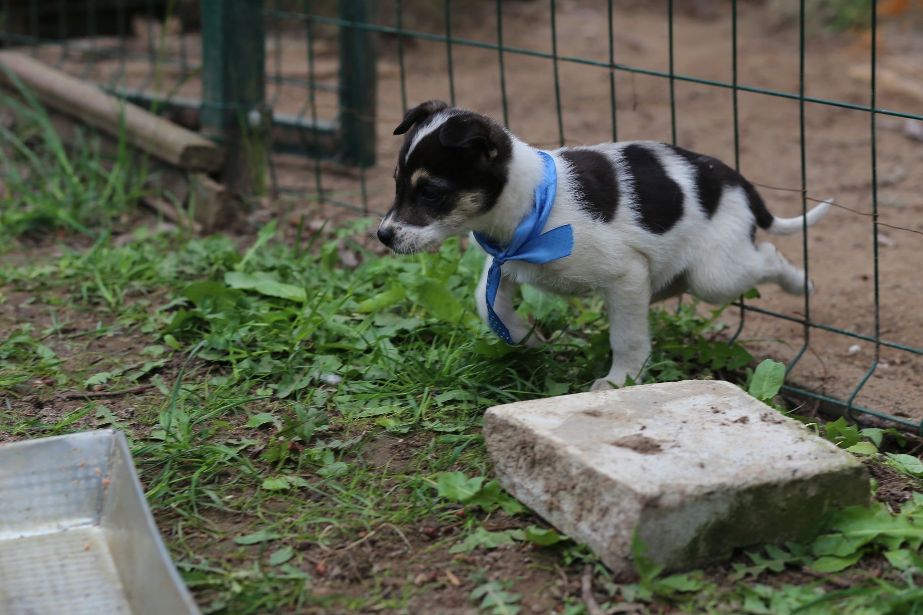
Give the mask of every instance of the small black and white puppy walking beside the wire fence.
<path id="1" fill-rule="evenodd" d="M 394 129 L 404 133 L 394 171 L 397 195 L 378 229 L 381 242 L 400 254 L 470 231 L 508 243 L 533 207 L 543 173 L 538 151 L 495 120 L 441 101 L 408 111 Z M 804 217 L 773 217 L 753 185 L 723 162 L 653 141 L 547 153 L 557 166 L 557 196 L 545 230 L 570 224 L 573 252 L 541 265 L 504 264 L 494 310 L 519 343 L 531 329 L 513 310 L 520 284 L 562 295 L 600 293 L 609 313 L 612 369 L 593 390 L 643 373 L 651 302 L 690 290 L 705 302 L 724 303 L 768 282 L 804 293 L 804 271 L 772 243 L 754 241 L 757 227 L 791 234 L 802 230 Z M 808 226 L 829 207 L 811 209 Z M 490 261 L 477 290 L 485 319 Z"/>

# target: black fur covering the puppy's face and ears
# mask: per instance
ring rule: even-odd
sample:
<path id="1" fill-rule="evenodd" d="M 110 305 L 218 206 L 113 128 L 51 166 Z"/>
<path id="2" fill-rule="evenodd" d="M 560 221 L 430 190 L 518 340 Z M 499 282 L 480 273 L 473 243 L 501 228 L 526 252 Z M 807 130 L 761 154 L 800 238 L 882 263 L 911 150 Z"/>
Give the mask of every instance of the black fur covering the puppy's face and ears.
<path id="1" fill-rule="evenodd" d="M 507 183 L 512 141 L 494 120 L 462 109 L 450 109 L 452 116 L 436 130 L 420 139 L 407 156 L 417 132 L 432 122 L 427 116 L 407 132 L 398 159 L 397 195 L 391 211 L 404 224 L 426 226 L 450 215 L 463 198 L 480 195 L 485 212 L 497 204 Z M 446 131 L 446 135 L 443 135 Z M 425 178 L 414 186 L 414 172 L 424 170 L 438 178 L 438 184 Z M 424 186 L 438 187 L 438 197 L 424 198 Z"/>

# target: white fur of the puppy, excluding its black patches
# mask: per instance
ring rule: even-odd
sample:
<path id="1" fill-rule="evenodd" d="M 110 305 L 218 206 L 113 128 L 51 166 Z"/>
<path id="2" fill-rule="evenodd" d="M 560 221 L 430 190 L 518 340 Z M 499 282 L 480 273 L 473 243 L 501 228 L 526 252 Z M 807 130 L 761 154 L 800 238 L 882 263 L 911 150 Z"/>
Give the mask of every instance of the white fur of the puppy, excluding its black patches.
<path id="1" fill-rule="evenodd" d="M 447 116 L 448 117 L 448 116 Z M 446 118 L 425 126 L 426 134 Z M 414 138 L 414 147 L 424 129 Z M 497 205 L 486 214 L 468 219 L 466 231 L 479 231 L 494 242 L 509 242 L 513 231 L 526 212 L 533 207 L 533 194 L 541 181 L 543 162 L 537 151 L 515 136 L 509 161 L 507 185 Z M 605 143 L 591 149 L 603 153 L 615 166 L 619 200 L 614 219 L 593 219 L 581 209 L 581 195 L 561 149 L 548 151 L 557 165 L 557 195 L 545 231 L 569 224 L 573 229 L 574 250 L 564 258 L 533 265 L 508 261 L 503 266 L 495 312 L 509 328 L 514 342 L 526 338 L 531 327 L 515 313 L 512 297 L 519 284 L 531 284 L 548 292 L 575 295 L 598 293 L 609 312 L 609 340 L 612 367 L 593 389 L 611 388 L 637 380 L 644 373 L 651 352 L 648 332 L 648 309 L 652 301 L 675 296 L 685 290 L 710 303 L 731 301 L 758 284 L 773 282 L 784 290 L 800 294 L 805 290 L 804 272 L 792 266 L 772 243 L 754 245 L 750 230 L 754 217 L 747 196 L 739 186 L 725 186 L 713 216 L 702 210 L 695 186 L 695 171 L 689 162 L 663 144 L 636 142 L 655 153 L 666 174 L 683 192 L 683 215 L 664 233 L 646 231 L 639 224 L 634 202 L 633 179 L 622 160 L 624 148 L 631 142 Z M 829 202 L 807 214 L 810 226 L 826 213 Z M 392 224 L 386 219 L 383 226 Z M 773 220 L 769 231 L 787 234 L 800 231 L 802 217 Z M 433 224 L 423 228 L 401 225 L 402 242 L 416 249 L 426 249 L 442 242 L 461 228 Z M 402 250 L 408 252 L 411 250 Z M 476 292 L 479 313 L 486 320 L 485 265 Z M 809 283 L 808 290 L 813 286 Z M 528 343 L 535 343 L 530 336 Z"/>

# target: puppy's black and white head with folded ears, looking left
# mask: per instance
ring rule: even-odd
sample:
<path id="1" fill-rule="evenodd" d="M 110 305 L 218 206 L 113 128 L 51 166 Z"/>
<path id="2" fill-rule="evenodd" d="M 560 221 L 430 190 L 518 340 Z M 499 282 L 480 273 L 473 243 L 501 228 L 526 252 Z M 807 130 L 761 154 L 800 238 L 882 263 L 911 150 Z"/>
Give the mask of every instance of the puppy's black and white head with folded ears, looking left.
<path id="1" fill-rule="evenodd" d="M 507 183 L 512 141 L 480 113 L 427 101 L 404 115 L 394 203 L 378 239 L 402 254 L 421 252 L 474 230 Z"/>

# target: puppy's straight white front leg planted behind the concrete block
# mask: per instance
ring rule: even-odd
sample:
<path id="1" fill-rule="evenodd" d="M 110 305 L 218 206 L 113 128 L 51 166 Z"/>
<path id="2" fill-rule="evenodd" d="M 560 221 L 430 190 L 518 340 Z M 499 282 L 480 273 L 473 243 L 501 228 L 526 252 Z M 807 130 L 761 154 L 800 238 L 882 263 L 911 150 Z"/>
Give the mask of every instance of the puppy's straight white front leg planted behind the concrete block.
<path id="1" fill-rule="evenodd" d="M 651 335 L 647 313 L 651 307 L 651 283 L 645 263 L 627 267 L 624 276 L 605 292 L 609 312 L 609 344 L 612 346 L 612 369 L 593 383 L 592 391 L 622 386 L 627 376 L 640 381 L 644 364 L 651 354 Z"/>

